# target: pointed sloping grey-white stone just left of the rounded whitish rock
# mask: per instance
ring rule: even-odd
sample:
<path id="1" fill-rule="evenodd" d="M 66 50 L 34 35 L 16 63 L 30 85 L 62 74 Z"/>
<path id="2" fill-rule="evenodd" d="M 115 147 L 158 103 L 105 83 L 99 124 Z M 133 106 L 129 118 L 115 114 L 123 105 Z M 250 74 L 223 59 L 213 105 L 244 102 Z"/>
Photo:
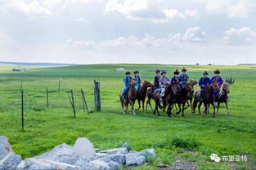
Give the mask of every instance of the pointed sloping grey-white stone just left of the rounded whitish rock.
<path id="1" fill-rule="evenodd" d="M 74 164 L 79 160 L 79 155 L 74 153 L 72 146 L 64 143 L 43 155 L 35 157 L 35 159 L 48 159 L 60 163 Z"/>

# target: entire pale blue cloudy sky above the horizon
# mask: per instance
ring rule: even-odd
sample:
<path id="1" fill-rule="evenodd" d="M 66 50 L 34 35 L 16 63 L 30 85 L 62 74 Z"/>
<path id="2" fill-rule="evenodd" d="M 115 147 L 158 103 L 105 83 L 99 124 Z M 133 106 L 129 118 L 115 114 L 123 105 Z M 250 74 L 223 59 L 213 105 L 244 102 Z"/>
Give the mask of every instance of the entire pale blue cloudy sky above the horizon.
<path id="1" fill-rule="evenodd" d="M 0 0 L 0 61 L 256 63 L 256 0 Z"/>

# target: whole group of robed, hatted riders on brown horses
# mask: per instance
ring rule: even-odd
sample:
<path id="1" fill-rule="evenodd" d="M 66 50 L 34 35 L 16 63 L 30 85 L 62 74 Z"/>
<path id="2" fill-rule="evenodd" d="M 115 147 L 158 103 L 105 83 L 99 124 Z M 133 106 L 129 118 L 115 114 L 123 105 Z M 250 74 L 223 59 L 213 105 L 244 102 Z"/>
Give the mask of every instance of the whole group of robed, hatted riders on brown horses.
<path id="1" fill-rule="evenodd" d="M 189 78 L 186 74 L 186 68 L 182 68 L 182 73 L 176 69 L 173 72 L 173 77 L 170 79 L 166 76 L 167 72 L 157 69 L 155 71 L 154 84 L 149 81 L 144 81 L 142 79 L 139 71 L 133 72 L 134 76 L 131 76 L 131 72 L 125 72 L 124 77 L 124 89 L 120 92 L 121 104 L 124 113 L 127 111 L 128 104 L 130 103 L 132 110 L 134 112 L 134 102 L 138 100 L 139 108 L 141 107 L 144 111 L 144 102 L 146 97 L 148 98 L 146 102 L 150 105 L 150 99 L 155 100 L 155 111 L 159 115 L 158 108 L 165 110 L 167 108 L 168 116 L 172 116 L 172 109 L 176 107 L 179 108 L 177 114 L 182 110 L 182 116 L 184 116 L 184 110 L 191 105 L 191 112 L 195 112 L 195 107 L 199 102 L 199 112 L 200 107 L 204 104 L 204 113 L 207 115 L 209 112 L 209 105 L 213 105 L 213 116 L 215 116 L 216 103 L 219 104 L 225 102 L 227 107 L 227 94 L 229 93 L 228 84 L 222 81 L 220 76 L 220 71 L 217 69 L 214 71 L 214 76 L 209 78 L 209 73 L 204 72 L 203 76 L 200 78 L 198 85 L 200 89 L 194 92 L 194 85 L 197 81 Z M 194 102 L 192 100 L 194 98 Z M 161 105 L 163 103 L 163 106 Z M 187 103 L 187 107 L 186 107 Z M 182 107 L 182 109 L 181 109 Z M 138 108 L 138 109 L 139 109 Z M 138 110 L 137 109 L 137 110 Z M 152 107 L 151 110 L 153 111 Z M 218 111 L 217 111 L 218 112 Z M 228 107 L 227 113 L 229 115 Z"/>

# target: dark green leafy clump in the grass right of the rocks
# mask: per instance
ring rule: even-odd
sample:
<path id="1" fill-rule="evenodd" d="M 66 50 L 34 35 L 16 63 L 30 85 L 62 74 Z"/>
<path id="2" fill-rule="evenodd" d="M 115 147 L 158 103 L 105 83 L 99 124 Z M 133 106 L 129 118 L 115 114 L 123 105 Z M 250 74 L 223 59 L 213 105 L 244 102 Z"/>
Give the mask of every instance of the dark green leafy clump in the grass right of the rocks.
<path id="1" fill-rule="evenodd" d="M 174 137 L 172 140 L 172 145 L 175 147 L 182 147 L 186 150 L 194 150 L 200 146 L 200 142 L 197 142 L 195 138 L 180 138 Z"/>

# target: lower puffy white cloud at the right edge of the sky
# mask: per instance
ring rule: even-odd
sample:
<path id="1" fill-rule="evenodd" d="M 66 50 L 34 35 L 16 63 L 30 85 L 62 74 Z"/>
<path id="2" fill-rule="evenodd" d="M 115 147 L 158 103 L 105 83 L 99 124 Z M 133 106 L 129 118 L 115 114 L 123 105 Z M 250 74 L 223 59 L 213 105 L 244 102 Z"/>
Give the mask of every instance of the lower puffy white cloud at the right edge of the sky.
<path id="1" fill-rule="evenodd" d="M 256 32 L 251 28 L 243 27 L 240 29 L 230 28 L 225 32 L 222 41 L 234 46 L 256 45 Z"/>

